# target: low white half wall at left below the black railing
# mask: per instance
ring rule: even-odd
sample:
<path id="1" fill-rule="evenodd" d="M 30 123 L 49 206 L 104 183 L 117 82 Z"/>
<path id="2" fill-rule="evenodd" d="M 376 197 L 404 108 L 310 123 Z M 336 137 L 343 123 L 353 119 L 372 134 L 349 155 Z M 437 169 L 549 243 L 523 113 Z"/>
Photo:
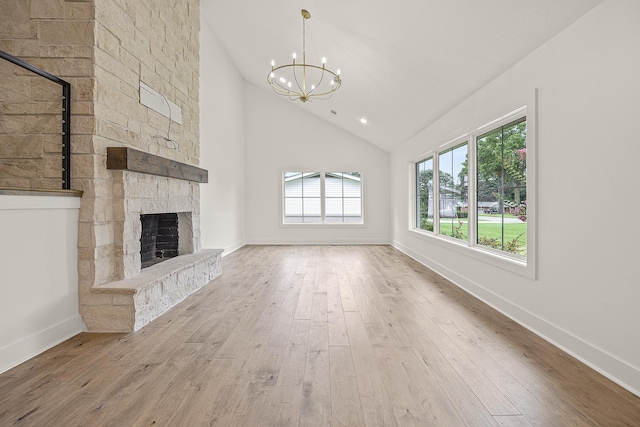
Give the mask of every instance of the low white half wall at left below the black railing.
<path id="1" fill-rule="evenodd" d="M 84 329 L 79 197 L 0 195 L 0 372 Z"/>

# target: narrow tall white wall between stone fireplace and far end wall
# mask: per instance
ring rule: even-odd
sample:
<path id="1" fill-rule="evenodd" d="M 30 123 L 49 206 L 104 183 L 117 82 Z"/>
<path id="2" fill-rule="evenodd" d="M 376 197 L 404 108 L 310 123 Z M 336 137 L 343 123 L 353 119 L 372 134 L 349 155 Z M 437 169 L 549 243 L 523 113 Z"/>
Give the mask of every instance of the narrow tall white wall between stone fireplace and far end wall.
<path id="1" fill-rule="evenodd" d="M 202 247 L 228 255 L 245 244 L 242 77 L 209 25 L 200 28 L 200 185 Z"/>

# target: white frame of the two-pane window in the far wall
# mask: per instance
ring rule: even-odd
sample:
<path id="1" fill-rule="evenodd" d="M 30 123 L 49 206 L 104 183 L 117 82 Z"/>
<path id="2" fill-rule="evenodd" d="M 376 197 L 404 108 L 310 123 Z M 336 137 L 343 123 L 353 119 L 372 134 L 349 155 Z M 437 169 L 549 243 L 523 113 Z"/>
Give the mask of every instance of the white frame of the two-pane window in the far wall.
<path id="1" fill-rule="evenodd" d="M 302 169 L 302 168 L 287 168 L 281 169 L 279 173 L 279 181 L 280 181 L 280 219 L 279 226 L 280 227 L 356 227 L 361 228 L 365 227 L 365 194 L 364 194 L 364 175 L 365 173 L 362 170 L 350 169 L 351 171 L 355 171 L 360 174 L 360 217 L 362 218 L 361 222 L 326 222 L 326 174 L 336 173 L 337 171 L 341 171 L 340 173 L 346 173 L 342 171 L 343 168 L 338 169 Z M 320 222 L 286 222 L 285 221 L 285 174 L 291 172 L 299 172 L 302 174 L 307 173 L 318 173 L 320 175 Z M 330 197 L 331 198 L 331 197 Z M 344 200 L 344 193 L 342 199 Z M 304 202 L 303 202 L 304 203 Z"/>

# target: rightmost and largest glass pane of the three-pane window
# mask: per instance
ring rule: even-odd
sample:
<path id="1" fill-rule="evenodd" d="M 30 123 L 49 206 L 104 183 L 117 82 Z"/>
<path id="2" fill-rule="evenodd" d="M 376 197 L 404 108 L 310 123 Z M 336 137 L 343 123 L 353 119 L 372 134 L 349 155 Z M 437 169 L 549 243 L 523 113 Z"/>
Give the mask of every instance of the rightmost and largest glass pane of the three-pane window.
<path id="1" fill-rule="evenodd" d="M 478 136 L 476 144 L 476 243 L 526 256 L 526 118 Z"/>

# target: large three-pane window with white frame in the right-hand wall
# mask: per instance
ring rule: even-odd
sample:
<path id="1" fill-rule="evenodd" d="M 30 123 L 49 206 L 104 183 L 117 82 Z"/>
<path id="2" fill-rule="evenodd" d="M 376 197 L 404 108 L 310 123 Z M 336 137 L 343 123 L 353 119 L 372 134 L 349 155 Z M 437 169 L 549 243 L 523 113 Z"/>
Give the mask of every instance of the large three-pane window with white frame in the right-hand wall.
<path id="1" fill-rule="evenodd" d="M 522 107 L 416 161 L 411 228 L 534 278 L 533 120 Z"/>

